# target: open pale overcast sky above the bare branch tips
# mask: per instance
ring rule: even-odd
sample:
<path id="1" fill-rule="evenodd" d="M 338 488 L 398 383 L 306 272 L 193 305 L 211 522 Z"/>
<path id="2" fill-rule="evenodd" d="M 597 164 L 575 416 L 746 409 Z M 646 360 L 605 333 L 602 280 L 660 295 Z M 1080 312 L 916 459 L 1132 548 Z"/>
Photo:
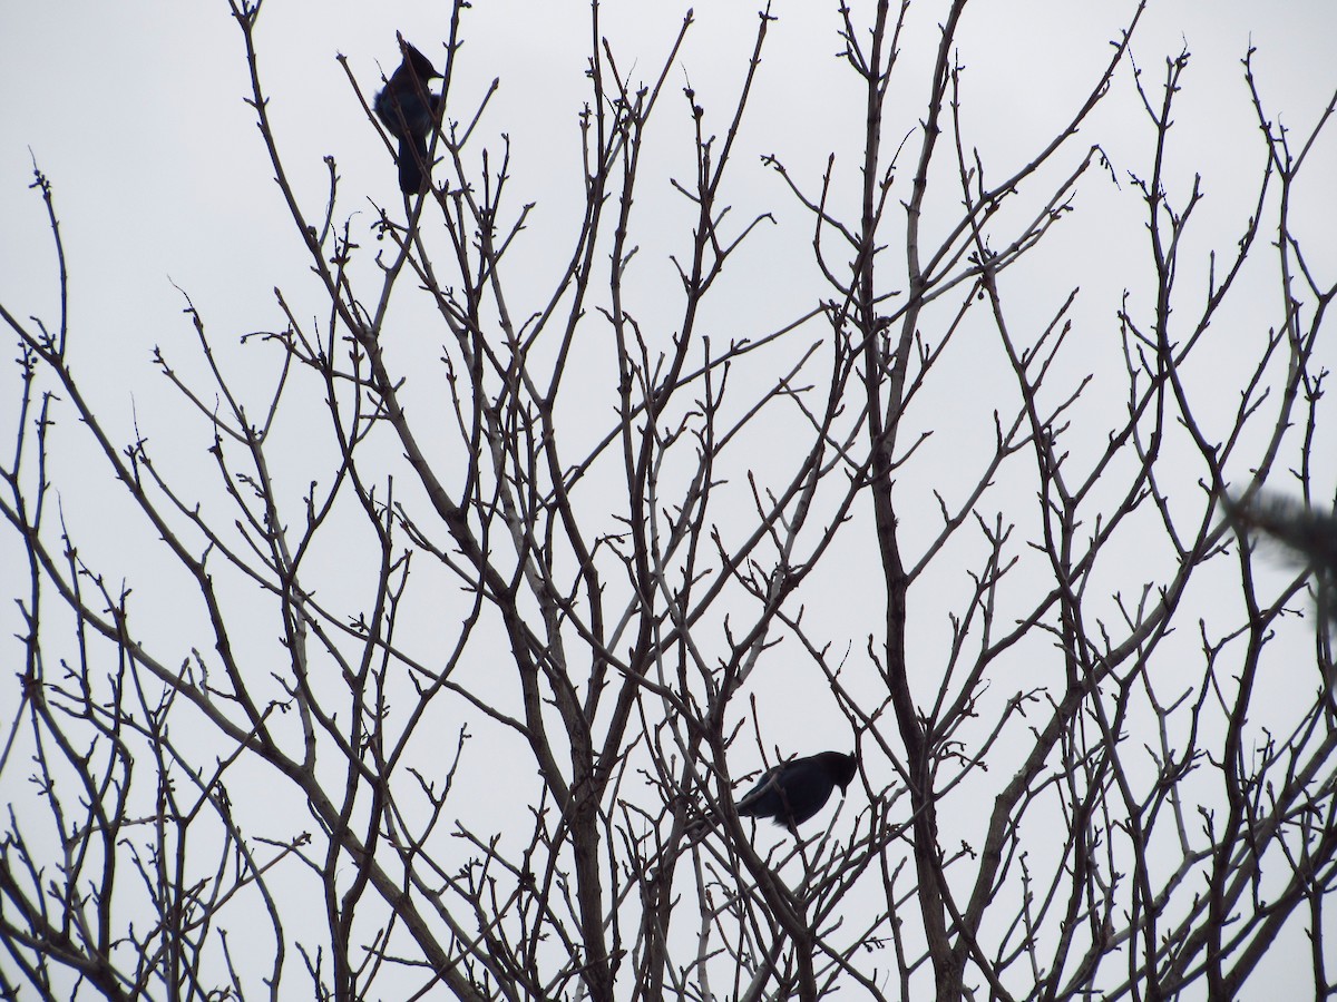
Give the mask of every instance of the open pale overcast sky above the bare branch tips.
<path id="1" fill-rule="evenodd" d="M 624 72 L 647 73 L 658 64 L 683 7 L 606 5 L 604 32 Z M 766 100 L 757 108 L 754 135 L 767 136 L 757 150 L 785 146 L 800 167 L 825 158 L 832 143 L 824 131 L 841 124 L 840 103 L 826 88 L 844 76 L 834 59 L 822 59 L 838 48 L 833 7 L 809 0 L 774 7 L 779 21 L 762 67 Z M 1025 154 L 1048 135 L 1104 57 L 1100 43 L 1131 8 L 1015 0 L 980 0 L 968 8 L 961 60 L 981 144 L 1003 151 L 1012 142 Z M 397 61 L 397 29 L 433 57 L 440 55 L 444 9 L 440 3 L 404 0 L 289 0 L 265 9 L 261 73 L 287 170 L 309 211 L 325 195 L 326 154 L 337 158 L 348 212 L 366 207 L 362 194 L 382 203 L 393 196 L 393 166 L 336 56 L 348 56 L 370 92 L 381 69 Z M 925 51 L 932 32 L 925 28 L 941 9 L 937 3 L 912 7 L 908 63 L 932 56 Z M 727 107 L 750 49 L 755 11 L 755 3 L 734 0 L 698 4 L 681 80 L 691 81 L 707 111 Z M 0 293 L 7 302 L 24 299 L 24 311 L 32 313 L 49 311 L 55 302 L 41 207 L 28 191 L 36 158 L 56 188 L 76 283 L 75 319 L 84 347 L 102 349 L 98 365 L 124 359 L 126 379 L 151 378 L 147 347 L 176 323 L 180 305 L 170 282 L 197 297 L 219 326 L 259 323 L 269 290 L 302 265 L 254 114 L 243 103 L 241 32 L 226 4 L 11 1 L 0 19 Z M 525 200 L 539 200 L 539 226 L 563 200 L 562 188 L 548 187 L 545 175 L 563 179 L 554 167 L 576 166 L 572 123 L 584 96 L 587 21 L 580 4 L 517 0 L 480 0 L 465 21 L 460 95 L 481 94 L 493 76 L 501 79 L 488 124 L 512 135 L 517 176 L 528 186 Z M 1328 0 L 1158 1 L 1139 31 L 1134 52 L 1154 81 L 1166 55 L 1185 43 L 1194 53 L 1181 118 L 1186 131 L 1198 131 L 1189 142 L 1202 142 L 1210 158 L 1205 167 L 1214 195 L 1231 151 L 1239 148 L 1238 136 L 1253 128 L 1238 65 L 1250 39 L 1265 98 L 1284 112 L 1284 122 L 1310 123 L 1337 76 L 1337 5 Z M 832 72 L 822 75 L 822 64 Z M 1124 104 L 1123 114 L 1131 114 L 1130 107 Z M 678 108 L 673 112 L 682 118 Z M 908 108 L 906 128 L 917 114 L 917 107 Z M 775 142 L 774 122 L 783 123 L 787 142 Z M 796 142 L 805 134 L 810 164 L 801 163 L 805 143 Z M 1329 150 L 1332 142 L 1329 136 Z M 997 171 L 1009 166 L 1003 156 L 997 164 Z M 1310 183 L 1320 174 L 1314 171 Z M 759 168 L 757 176 L 763 176 Z M 1226 199 L 1217 198 L 1225 208 L 1219 203 Z"/>

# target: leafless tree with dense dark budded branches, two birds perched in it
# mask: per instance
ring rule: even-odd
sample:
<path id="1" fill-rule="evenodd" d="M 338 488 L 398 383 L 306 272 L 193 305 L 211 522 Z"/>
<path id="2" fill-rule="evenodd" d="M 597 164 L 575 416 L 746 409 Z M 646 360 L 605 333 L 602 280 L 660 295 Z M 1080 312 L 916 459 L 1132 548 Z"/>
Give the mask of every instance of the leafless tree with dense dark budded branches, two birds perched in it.
<path id="1" fill-rule="evenodd" d="M 1140 7 L 1003 175 L 963 123 L 964 0 L 904 139 L 908 4 L 841 7 L 861 162 L 813 179 L 762 158 L 821 285 L 721 338 L 710 311 L 743 294 L 725 266 L 777 218 L 729 214 L 769 11 L 721 118 L 690 87 L 675 106 L 690 13 L 636 81 L 595 4 L 583 216 L 537 289 L 512 263 L 531 206 L 492 91 L 463 104 L 467 4 L 444 51 L 417 40 L 444 73 L 433 184 L 369 246 L 337 222 L 333 163 L 308 216 L 261 4 L 230 1 L 324 315 L 278 291 L 234 349 L 187 301 L 203 365 L 155 362 L 205 432 L 202 481 L 88 402 L 66 313 L 0 306 L 21 351 L 0 510 L 28 570 L 7 997 L 1223 999 L 1304 937 L 1332 994 L 1332 623 L 1304 615 L 1312 568 L 1269 565 L 1218 504 L 1278 478 L 1332 502 L 1337 286 L 1293 224 L 1332 102 L 1281 130 L 1246 56 L 1255 202 L 1197 251 L 1202 190 L 1171 180 L 1189 55 L 1138 72 Z M 1119 88 L 1146 114 L 1131 168 L 1079 138 Z M 671 180 L 678 285 L 647 291 L 634 206 L 664 182 L 644 154 L 666 118 L 690 122 L 695 170 Z M 1076 289 L 1025 266 L 1079 191 L 1115 184 L 1144 258 L 1092 331 Z M 1259 259 L 1274 322 L 1222 366 L 1213 335 Z M 63 253 L 59 278 L 64 310 Z M 987 393 L 963 391 L 980 357 Z M 57 422 L 96 446 L 155 541 L 136 573 L 172 601 L 80 553 Z M 834 636 L 822 613 L 854 592 L 880 620 Z M 1297 636 L 1313 665 L 1270 700 Z M 767 724 L 777 688 L 825 700 L 861 762 L 797 838 L 735 810 L 739 780 L 820 749 Z"/>

